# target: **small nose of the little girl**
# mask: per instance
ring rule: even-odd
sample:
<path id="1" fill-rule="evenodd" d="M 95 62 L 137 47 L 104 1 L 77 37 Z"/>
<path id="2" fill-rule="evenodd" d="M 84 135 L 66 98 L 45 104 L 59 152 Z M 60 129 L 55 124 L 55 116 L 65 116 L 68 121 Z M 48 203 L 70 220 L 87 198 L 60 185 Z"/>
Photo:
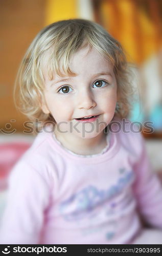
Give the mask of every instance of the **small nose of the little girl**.
<path id="1" fill-rule="evenodd" d="M 96 101 L 94 95 L 90 91 L 82 91 L 78 95 L 78 109 L 91 109 L 95 108 Z"/>

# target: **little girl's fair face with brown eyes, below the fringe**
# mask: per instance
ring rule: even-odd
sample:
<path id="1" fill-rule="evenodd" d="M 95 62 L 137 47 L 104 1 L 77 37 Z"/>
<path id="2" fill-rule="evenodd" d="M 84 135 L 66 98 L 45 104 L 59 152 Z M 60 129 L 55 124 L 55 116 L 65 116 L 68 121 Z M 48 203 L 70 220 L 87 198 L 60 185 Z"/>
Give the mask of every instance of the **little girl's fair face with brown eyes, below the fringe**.
<path id="1" fill-rule="evenodd" d="M 112 65 L 95 48 L 79 50 L 71 59 L 70 68 L 77 75 L 50 80 L 45 76 L 44 113 L 51 113 L 64 135 L 92 138 L 112 120 L 117 102 L 117 81 Z M 90 122 L 77 118 L 97 116 Z M 61 123 L 62 122 L 62 123 Z M 101 123 L 102 122 L 102 123 Z M 72 129 L 76 127 L 76 129 Z"/>

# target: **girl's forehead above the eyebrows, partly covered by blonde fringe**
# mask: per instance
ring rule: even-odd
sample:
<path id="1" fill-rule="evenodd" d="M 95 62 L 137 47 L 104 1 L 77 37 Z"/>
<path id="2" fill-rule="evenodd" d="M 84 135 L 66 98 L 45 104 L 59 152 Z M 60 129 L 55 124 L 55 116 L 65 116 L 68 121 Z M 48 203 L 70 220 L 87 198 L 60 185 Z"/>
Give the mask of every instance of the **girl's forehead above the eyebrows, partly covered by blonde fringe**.
<path id="1" fill-rule="evenodd" d="M 42 60 L 43 76 L 45 80 L 53 80 L 55 77 L 76 76 L 86 73 L 113 72 L 113 65 L 94 47 L 86 46 L 79 49 L 72 55 L 69 61 L 64 61 L 67 56 L 63 56 L 61 61 L 50 52 L 44 55 Z"/>

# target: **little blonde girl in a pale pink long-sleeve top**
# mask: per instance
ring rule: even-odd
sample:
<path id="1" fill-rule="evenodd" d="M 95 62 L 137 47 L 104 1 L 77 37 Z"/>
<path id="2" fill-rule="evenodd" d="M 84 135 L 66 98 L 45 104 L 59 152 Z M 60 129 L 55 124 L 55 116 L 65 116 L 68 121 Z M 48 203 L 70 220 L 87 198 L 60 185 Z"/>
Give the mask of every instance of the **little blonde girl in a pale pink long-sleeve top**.
<path id="1" fill-rule="evenodd" d="M 128 74 L 96 23 L 62 20 L 35 37 L 15 96 L 39 133 L 11 172 L 2 244 L 162 242 L 161 185 L 125 119 Z"/>

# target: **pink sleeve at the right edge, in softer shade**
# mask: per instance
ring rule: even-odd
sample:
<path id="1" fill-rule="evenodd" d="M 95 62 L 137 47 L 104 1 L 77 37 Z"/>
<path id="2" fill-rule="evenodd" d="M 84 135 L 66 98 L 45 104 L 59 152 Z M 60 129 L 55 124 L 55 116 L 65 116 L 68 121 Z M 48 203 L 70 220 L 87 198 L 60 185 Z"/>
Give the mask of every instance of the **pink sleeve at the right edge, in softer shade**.
<path id="1" fill-rule="evenodd" d="M 133 187 L 137 208 L 147 224 L 162 228 L 162 186 L 157 174 L 152 171 L 144 139 L 140 136 L 140 158 L 134 165 L 136 180 Z"/>

